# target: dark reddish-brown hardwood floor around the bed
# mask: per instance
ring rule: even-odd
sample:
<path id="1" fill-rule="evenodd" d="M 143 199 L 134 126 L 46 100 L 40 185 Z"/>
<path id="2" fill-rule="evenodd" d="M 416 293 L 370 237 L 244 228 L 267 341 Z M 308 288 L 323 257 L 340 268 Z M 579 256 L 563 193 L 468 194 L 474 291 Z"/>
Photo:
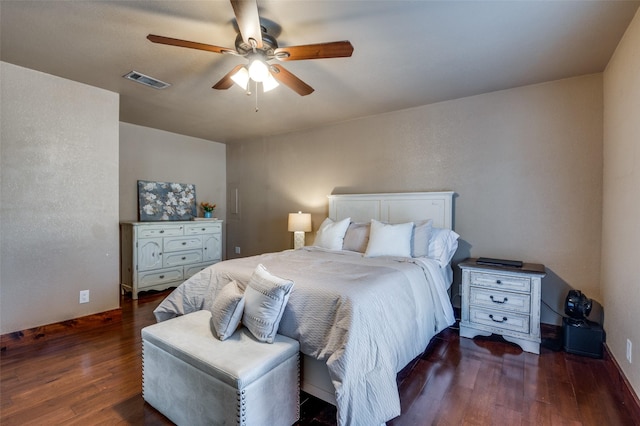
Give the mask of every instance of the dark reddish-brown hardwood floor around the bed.
<path id="1" fill-rule="evenodd" d="M 141 396 L 142 327 L 167 294 L 122 299 L 122 321 L 7 349 L 0 424 L 170 425 Z M 445 330 L 398 375 L 405 425 L 638 425 L 603 360 Z M 298 425 L 334 425 L 335 408 L 304 395 Z"/>

